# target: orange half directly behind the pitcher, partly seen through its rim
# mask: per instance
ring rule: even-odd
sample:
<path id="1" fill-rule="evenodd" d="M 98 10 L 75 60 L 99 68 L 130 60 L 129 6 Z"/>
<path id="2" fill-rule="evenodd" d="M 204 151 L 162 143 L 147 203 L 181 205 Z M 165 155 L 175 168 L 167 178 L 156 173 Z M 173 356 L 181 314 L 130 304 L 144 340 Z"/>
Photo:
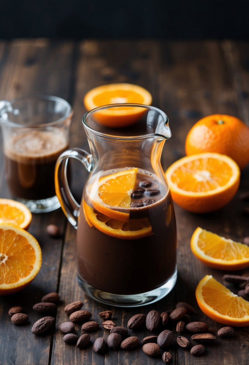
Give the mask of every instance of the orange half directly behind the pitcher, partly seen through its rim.
<path id="1" fill-rule="evenodd" d="M 96 87 L 85 95 L 84 105 L 87 110 L 109 104 L 144 104 L 151 105 L 152 95 L 141 86 L 134 84 L 108 84 Z M 136 122 L 146 111 L 139 107 L 115 107 L 95 112 L 94 117 L 106 127 L 125 127 Z"/>

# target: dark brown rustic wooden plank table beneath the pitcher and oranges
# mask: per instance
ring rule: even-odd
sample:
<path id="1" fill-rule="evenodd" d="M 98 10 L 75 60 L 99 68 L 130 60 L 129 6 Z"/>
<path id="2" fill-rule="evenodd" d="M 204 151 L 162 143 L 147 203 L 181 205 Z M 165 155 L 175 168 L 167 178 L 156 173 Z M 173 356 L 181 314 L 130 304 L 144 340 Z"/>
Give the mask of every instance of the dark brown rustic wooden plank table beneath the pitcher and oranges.
<path id="1" fill-rule="evenodd" d="M 97 85 L 109 82 L 139 84 L 153 95 L 153 105 L 169 116 L 172 138 L 164 146 L 164 169 L 184 156 L 184 141 L 189 128 L 201 117 L 214 113 L 238 116 L 249 122 L 249 44 L 245 42 L 205 41 L 83 41 L 51 42 L 46 39 L 24 39 L 0 43 L 0 98 L 13 99 L 32 93 L 61 96 L 72 104 L 74 110 L 70 131 L 70 145 L 89 150 L 83 126 L 85 112 L 83 96 Z M 9 197 L 4 181 L 3 151 L 0 164 L 0 196 Z M 87 173 L 81 165 L 73 165 L 73 193 L 80 200 Z M 249 166 L 242 172 L 240 192 L 248 190 Z M 0 364 L 105 364 L 140 365 L 164 364 L 160 357 L 146 356 L 141 346 L 126 351 L 108 350 L 98 355 L 89 346 L 79 350 L 66 345 L 58 330 L 68 319 L 65 304 L 83 300 L 84 308 L 92 318 L 101 323 L 102 310 L 112 309 L 117 325 L 127 325 L 136 313 L 148 313 L 155 308 L 162 312 L 175 308 L 179 301 L 186 301 L 196 308 L 192 320 L 206 322 L 210 331 L 217 334 L 222 327 L 205 316 L 195 300 L 195 288 L 206 274 L 222 282 L 224 272 L 208 268 L 191 253 L 189 241 L 197 226 L 241 241 L 249 235 L 248 217 L 242 208 L 239 193 L 222 210 L 212 214 L 191 214 L 175 206 L 178 233 L 178 279 L 173 291 L 158 303 L 134 310 L 108 308 L 84 295 L 76 281 L 75 237 L 76 231 L 66 221 L 61 209 L 48 214 L 33 215 L 30 233 L 42 248 L 43 264 L 35 280 L 22 292 L 0 298 Z M 64 232 L 63 239 L 50 238 L 46 226 L 54 223 Z M 244 270 L 245 271 L 245 270 Z M 56 315 L 56 329 L 52 334 L 35 336 L 32 324 L 42 315 L 32 306 L 48 292 L 58 291 L 62 302 Z M 21 305 L 30 316 L 26 326 L 14 326 L 8 310 Z M 77 333 L 79 333 L 77 326 Z M 175 325 L 168 328 L 177 333 Z M 104 336 L 108 330 L 91 334 L 92 341 Z M 131 331 L 131 334 L 133 331 Z M 175 345 L 173 364 L 246 365 L 249 355 L 248 327 L 236 328 L 233 339 L 217 338 L 214 345 L 206 346 L 203 356 L 197 358 Z M 138 331 L 142 340 L 149 333 Z M 190 338 L 190 335 L 187 334 Z"/>

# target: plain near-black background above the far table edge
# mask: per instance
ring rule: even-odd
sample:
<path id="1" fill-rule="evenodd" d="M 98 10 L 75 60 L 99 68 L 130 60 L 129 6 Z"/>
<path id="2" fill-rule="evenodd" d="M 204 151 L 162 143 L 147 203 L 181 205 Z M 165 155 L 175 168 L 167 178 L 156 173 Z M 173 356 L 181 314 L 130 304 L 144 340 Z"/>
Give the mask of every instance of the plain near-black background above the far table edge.
<path id="1" fill-rule="evenodd" d="M 0 0 L 0 38 L 249 38 L 248 0 Z"/>

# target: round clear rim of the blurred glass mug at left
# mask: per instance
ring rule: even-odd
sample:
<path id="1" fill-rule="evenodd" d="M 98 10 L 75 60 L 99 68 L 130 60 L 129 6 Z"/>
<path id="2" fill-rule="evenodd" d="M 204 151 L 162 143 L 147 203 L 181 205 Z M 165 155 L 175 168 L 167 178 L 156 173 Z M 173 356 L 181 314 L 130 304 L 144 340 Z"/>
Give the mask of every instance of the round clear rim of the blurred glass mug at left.
<path id="1" fill-rule="evenodd" d="M 56 124 L 63 122 L 65 119 L 68 119 L 69 116 L 72 115 L 72 112 L 73 112 L 72 106 L 68 103 L 68 101 L 66 101 L 62 97 L 53 96 L 53 95 L 27 95 L 27 96 L 18 97 L 16 99 L 12 99 L 11 101 L 8 101 L 8 100 L 1 100 L 1 101 L 6 101 L 6 103 L 8 103 L 8 105 L 12 105 L 18 101 L 23 101 L 23 100 L 28 100 L 28 99 L 60 101 L 62 104 L 66 105 L 66 107 L 67 107 L 66 113 L 60 119 L 53 120 L 53 122 L 39 123 L 39 124 L 20 124 L 20 123 L 12 122 L 12 120 L 9 120 L 9 119 L 3 119 L 2 113 L 4 111 L 6 112 L 5 107 L 3 107 L 3 110 L 0 112 L 0 119 L 3 122 L 5 122 L 6 124 L 8 124 L 9 126 L 16 127 L 16 128 L 44 128 L 44 127 L 54 126 Z M 6 106 L 6 108 L 7 108 L 7 106 Z"/>

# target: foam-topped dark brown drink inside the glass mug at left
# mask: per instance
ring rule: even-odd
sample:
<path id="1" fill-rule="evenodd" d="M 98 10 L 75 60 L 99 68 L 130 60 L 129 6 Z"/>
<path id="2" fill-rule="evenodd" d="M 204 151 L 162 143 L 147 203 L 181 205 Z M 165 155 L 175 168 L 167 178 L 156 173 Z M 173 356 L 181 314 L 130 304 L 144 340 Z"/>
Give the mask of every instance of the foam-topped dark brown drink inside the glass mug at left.
<path id="1" fill-rule="evenodd" d="M 54 196 L 55 162 L 66 148 L 60 132 L 31 131 L 14 136 L 4 150 L 5 176 L 11 193 L 30 200 Z"/>

